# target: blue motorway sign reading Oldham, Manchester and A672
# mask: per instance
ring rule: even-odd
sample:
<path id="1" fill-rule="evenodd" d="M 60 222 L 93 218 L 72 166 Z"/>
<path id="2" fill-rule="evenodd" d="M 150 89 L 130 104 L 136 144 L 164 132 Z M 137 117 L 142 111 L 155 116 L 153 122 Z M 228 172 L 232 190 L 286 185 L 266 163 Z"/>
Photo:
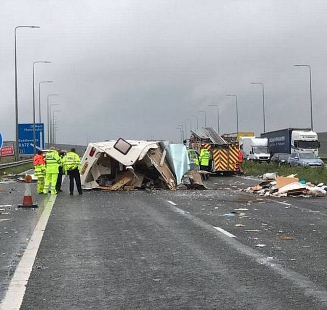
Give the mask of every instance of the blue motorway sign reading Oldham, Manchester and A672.
<path id="1" fill-rule="evenodd" d="M 44 125 L 35 124 L 36 149 L 44 149 Z M 18 153 L 33 154 L 33 124 L 18 124 Z"/>

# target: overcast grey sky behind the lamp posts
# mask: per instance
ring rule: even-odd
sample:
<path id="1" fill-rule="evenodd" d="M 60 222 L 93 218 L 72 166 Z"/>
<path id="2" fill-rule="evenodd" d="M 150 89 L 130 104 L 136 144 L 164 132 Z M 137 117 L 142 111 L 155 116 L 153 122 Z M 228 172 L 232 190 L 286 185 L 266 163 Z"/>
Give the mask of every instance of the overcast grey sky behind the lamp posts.
<path id="1" fill-rule="evenodd" d="M 46 95 L 59 103 L 62 143 L 115 139 L 177 141 L 176 125 L 207 110 L 221 131 L 262 132 L 264 82 L 267 130 L 310 126 L 312 66 L 314 129 L 327 131 L 325 0 L 0 0 L 0 130 L 14 139 L 14 35 L 18 46 L 19 122 L 32 122 L 32 62 L 38 64 L 42 118 Z M 36 101 L 37 88 L 36 88 Z M 194 118 L 193 118 L 194 120 Z M 204 125 L 203 116 L 200 124 Z M 194 120 L 195 124 L 195 120 Z"/>

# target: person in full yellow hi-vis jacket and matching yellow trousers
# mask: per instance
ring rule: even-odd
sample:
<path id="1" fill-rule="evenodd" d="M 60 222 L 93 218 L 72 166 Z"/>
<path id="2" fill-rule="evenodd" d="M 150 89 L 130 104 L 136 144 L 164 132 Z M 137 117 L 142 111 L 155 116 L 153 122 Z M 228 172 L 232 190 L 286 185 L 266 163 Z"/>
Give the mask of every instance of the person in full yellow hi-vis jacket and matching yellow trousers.
<path id="1" fill-rule="evenodd" d="M 59 173 L 59 165 L 61 163 L 60 156 L 58 151 L 51 146 L 48 153 L 45 155 L 45 163 L 46 163 L 46 173 L 45 173 L 45 183 L 43 188 L 43 194 L 47 194 L 50 190 L 52 195 L 56 195 L 56 184 Z"/>

